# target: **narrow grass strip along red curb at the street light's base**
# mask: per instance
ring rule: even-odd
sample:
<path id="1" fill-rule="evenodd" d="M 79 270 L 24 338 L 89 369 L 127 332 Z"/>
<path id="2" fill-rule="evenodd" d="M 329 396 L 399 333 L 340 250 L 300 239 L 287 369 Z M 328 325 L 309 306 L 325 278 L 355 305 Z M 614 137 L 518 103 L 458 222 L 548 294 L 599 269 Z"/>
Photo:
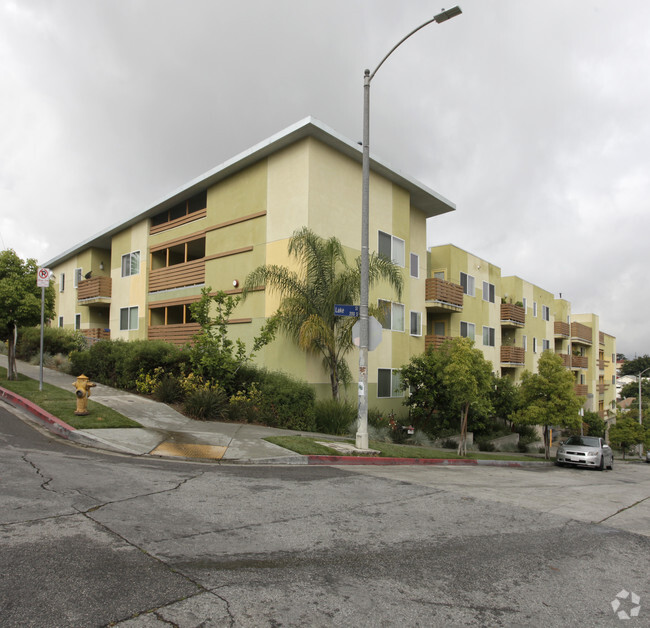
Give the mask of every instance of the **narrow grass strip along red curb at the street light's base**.
<path id="1" fill-rule="evenodd" d="M 324 447 L 315 442 L 315 439 L 306 436 L 270 436 L 265 440 L 285 449 L 290 449 L 303 456 L 334 455 L 340 456 L 339 452 L 329 447 Z M 322 441 L 322 438 L 318 439 Z M 354 441 L 348 441 L 354 443 Z M 466 456 L 459 456 L 455 451 L 448 449 L 432 449 L 430 447 L 418 447 L 416 445 L 395 445 L 394 443 L 380 443 L 370 441 L 369 447 L 380 452 L 381 458 L 446 458 L 446 459 L 476 459 L 476 460 L 515 460 L 518 462 L 540 461 L 538 456 L 526 456 L 525 454 L 514 453 L 487 453 L 482 451 L 468 452 Z"/>

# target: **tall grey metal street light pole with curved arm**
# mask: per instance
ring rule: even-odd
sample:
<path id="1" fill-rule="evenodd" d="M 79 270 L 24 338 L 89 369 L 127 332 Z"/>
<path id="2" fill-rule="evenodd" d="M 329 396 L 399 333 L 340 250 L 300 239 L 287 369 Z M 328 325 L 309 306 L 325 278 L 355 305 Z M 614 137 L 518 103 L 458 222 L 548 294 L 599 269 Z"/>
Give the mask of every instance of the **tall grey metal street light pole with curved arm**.
<path id="1" fill-rule="evenodd" d="M 369 216 L 370 216 L 370 81 L 377 74 L 377 70 L 384 64 L 397 48 L 399 48 L 411 35 L 432 22 L 446 22 L 452 17 L 460 15 L 462 11 L 456 6 L 442 11 L 430 20 L 420 24 L 408 35 L 395 44 L 388 54 L 379 62 L 372 71 L 366 70 L 363 75 L 363 161 L 362 161 L 362 188 L 361 188 L 361 289 L 359 305 L 359 413 L 356 435 L 356 447 L 368 449 L 368 293 L 369 293 Z"/>

